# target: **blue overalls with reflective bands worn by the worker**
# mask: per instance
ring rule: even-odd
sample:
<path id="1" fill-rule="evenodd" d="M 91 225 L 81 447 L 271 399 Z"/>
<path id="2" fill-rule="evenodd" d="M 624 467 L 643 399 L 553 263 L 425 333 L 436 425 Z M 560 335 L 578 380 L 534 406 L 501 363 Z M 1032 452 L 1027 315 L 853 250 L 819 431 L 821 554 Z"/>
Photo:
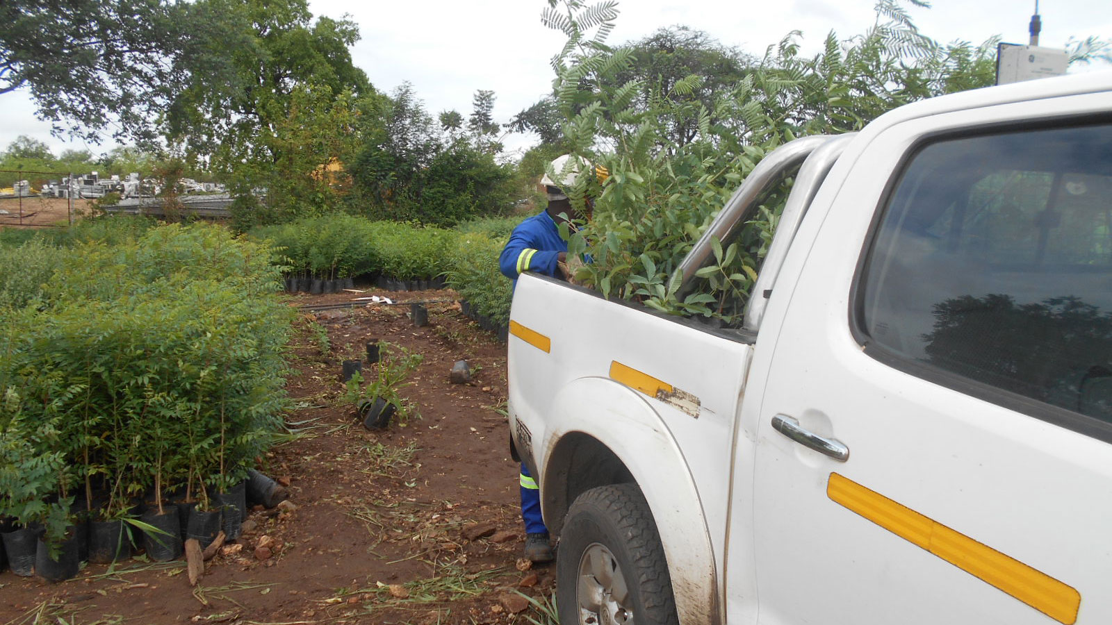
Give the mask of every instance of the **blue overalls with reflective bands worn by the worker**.
<path id="1" fill-rule="evenodd" d="M 522 271 L 557 276 L 557 257 L 562 251 L 567 251 L 567 241 L 560 238 L 553 218 L 542 211 L 514 228 L 498 258 L 498 268 L 504 276 L 514 280 L 516 287 Z M 525 463 L 522 463 L 518 482 L 522 487 L 522 519 L 525 520 L 526 534 L 547 534 L 548 528 L 540 516 L 540 490 Z"/>

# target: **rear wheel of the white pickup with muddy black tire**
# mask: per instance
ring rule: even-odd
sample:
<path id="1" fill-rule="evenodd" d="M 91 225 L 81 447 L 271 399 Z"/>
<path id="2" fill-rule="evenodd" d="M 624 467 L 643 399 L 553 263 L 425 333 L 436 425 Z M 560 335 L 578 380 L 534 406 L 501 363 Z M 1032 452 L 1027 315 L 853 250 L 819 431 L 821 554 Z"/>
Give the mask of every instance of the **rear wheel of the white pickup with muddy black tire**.
<path id="1" fill-rule="evenodd" d="M 556 584 L 563 625 L 679 623 L 661 536 L 633 484 L 575 499 L 560 532 Z"/>

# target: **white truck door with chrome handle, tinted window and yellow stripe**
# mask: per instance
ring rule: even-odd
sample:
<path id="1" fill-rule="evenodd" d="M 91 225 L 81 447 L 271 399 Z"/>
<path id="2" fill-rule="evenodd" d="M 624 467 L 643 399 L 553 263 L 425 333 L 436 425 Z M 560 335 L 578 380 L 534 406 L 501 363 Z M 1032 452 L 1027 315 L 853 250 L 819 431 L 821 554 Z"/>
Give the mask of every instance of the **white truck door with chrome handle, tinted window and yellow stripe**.
<path id="1" fill-rule="evenodd" d="M 1110 101 L 866 130 L 820 192 L 743 414 L 761 623 L 1112 623 Z"/>

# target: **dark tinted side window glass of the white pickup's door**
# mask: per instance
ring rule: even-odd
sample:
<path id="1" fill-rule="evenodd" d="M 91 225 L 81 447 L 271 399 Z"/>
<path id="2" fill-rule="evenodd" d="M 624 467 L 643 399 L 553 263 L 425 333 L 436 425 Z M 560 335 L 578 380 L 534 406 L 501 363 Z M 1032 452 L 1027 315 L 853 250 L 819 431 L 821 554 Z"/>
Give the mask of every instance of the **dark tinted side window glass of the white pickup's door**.
<path id="1" fill-rule="evenodd" d="M 860 295 L 873 346 L 1112 424 L 1112 125 L 919 150 Z"/>

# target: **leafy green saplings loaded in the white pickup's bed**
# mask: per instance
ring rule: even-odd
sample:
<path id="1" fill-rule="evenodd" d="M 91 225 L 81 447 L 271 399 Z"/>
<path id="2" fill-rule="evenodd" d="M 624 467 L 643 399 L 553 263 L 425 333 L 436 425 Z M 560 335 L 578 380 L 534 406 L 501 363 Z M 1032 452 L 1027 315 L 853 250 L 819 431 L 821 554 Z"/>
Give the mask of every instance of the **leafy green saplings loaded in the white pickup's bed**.
<path id="1" fill-rule="evenodd" d="M 612 2 L 565 0 L 558 9 L 554 2 L 543 20 L 568 37 L 554 61 L 565 141 L 610 171 L 603 187 L 583 177 L 570 190 L 577 208 L 597 198 L 593 221 L 568 244 L 569 255 L 593 260 L 576 271 L 577 280 L 607 297 L 733 321 L 787 186 L 766 198 L 734 239 L 715 241 L 714 261 L 683 300 L 676 269 L 766 153 L 798 136 L 856 130 L 903 103 L 991 83 L 993 41 L 943 47 L 920 33 L 896 0 L 881 0 L 876 9 L 863 34 L 838 40 L 831 33 L 814 57 L 802 57 L 798 33 L 791 33 L 759 62 L 742 67 L 749 61 L 683 29 L 610 49 Z M 706 69 L 729 59 L 721 71 Z M 692 68 L 704 69 L 683 76 Z M 732 78 L 705 90 L 719 73 Z"/>

